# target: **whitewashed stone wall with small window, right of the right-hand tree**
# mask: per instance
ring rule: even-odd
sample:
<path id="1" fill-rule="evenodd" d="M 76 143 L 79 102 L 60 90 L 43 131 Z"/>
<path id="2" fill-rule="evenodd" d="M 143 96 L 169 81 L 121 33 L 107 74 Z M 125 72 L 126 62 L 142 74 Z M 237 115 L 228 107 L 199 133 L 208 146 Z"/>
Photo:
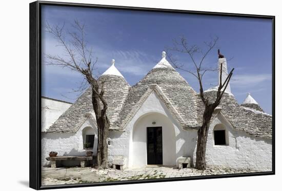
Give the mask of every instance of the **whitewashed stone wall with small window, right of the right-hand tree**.
<path id="1" fill-rule="evenodd" d="M 213 129 L 217 124 L 225 126 L 228 145 L 214 145 Z M 196 155 L 194 153 L 195 160 Z M 208 166 L 270 171 L 272 168 L 271 140 L 250 136 L 245 131 L 233 129 L 225 117 L 219 113 L 213 119 L 209 128 L 206 162 Z"/>

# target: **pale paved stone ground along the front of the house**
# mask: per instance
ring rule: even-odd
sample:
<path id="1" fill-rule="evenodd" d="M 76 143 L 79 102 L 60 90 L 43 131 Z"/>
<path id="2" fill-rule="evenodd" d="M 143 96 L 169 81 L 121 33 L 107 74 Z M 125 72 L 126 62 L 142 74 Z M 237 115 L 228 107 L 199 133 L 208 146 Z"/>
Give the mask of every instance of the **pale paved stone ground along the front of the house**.
<path id="1" fill-rule="evenodd" d="M 70 167 L 70 168 L 42 168 L 42 185 L 58 184 L 77 184 L 105 181 L 123 181 L 123 180 L 144 180 L 158 178 L 175 178 L 205 175 L 225 175 L 254 173 L 250 169 L 223 169 L 209 168 L 206 170 L 197 170 L 194 168 L 177 169 L 175 167 L 160 166 L 135 169 L 103 169 L 97 170 L 91 167 Z"/>

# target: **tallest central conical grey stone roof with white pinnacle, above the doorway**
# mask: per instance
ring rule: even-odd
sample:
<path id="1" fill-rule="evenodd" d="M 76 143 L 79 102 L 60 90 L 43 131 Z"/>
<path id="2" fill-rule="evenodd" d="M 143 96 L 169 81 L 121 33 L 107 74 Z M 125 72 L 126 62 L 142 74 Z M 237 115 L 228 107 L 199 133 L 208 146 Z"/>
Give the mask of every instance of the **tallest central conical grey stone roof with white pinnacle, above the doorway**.
<path id="1" fill-rule="evenodd" d="M 165 64 L 163 64 L 165 63 Z M 136 85 L 129 89 L 128 97 L 123 106 L 123 113 L 131 113 L 139 100 L 148 92 L 150 85 L 157 85 L 165 94 L 171 105 L 177 110 L 179 116 L 190 128 L 198 127 L 196 121 L 197 93 L 189 86 L 186 80 L 169 64 L 163 52 L 163 59 Z M 189 109 L 188 109 L 189 108 Z M 129 114 L 130 116 L 133 113 Z M 123 120 L 126 119 L 126 116 Z M 126 124 L 125 122 L 124 124 Z"/>

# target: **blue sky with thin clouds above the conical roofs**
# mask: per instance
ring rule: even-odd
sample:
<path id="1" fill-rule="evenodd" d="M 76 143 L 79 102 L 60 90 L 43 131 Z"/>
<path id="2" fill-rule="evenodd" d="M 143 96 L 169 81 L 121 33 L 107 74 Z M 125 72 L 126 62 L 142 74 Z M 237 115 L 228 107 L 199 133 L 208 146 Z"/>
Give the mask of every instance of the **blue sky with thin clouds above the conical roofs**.
<path id="1" fill-rule="evenodd" d="M 63 55 L 53 36 L 44 30 L 50 25 L 63 24 L 71 30 L 77 19 L 85 23 L 87 42 L 98 58 L 96 74 L 103 73 L 115 59 L 116 68 L 130 85 L 136 84 L 162 59 L 166 47 L 172 47 L 173 39 L 184 35 L 188 42 L 205 48 L 204 42 L 218 36 L 217 47 L 235 68 L 231 91 L 238 103 L 244 101 L 247 92 L 268 113 L 272 113 L 272 24 L 271 20 L 205 16 L 161 12 L 125 11 L 113 9 L 43 6 L 42 53 Z M 204 65 L 216 67 L 217 49 L 214 49 Z M 188 56 L 174 53 L 186 69 L 193 68 Z M 44 56 L 43 56 L 44 57 Z M 199 58 L 196 58 L 199 59 Z M 42 67 L 42 95 L 74 102 L 83 77 L 66 68 L 44 65 Z M 178 70 L 192 88 L 199 92 L 193 75 Z M 205 74 L 204 89 L 217 85 L 217 73 Z"/>

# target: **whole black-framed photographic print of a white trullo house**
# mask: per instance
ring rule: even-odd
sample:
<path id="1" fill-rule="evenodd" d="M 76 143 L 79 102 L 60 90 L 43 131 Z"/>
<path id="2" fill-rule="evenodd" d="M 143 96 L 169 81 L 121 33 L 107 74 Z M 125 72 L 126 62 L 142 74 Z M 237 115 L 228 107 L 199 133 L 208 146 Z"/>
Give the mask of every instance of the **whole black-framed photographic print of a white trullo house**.
<path id="1" fill-rule="evenodd" d="M 30 4 L 30 187 L 273 175 L 274 16 Z"/>

